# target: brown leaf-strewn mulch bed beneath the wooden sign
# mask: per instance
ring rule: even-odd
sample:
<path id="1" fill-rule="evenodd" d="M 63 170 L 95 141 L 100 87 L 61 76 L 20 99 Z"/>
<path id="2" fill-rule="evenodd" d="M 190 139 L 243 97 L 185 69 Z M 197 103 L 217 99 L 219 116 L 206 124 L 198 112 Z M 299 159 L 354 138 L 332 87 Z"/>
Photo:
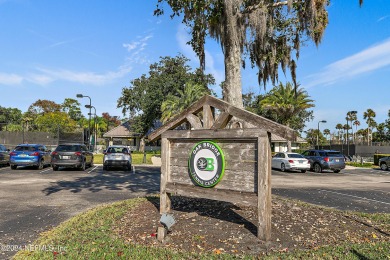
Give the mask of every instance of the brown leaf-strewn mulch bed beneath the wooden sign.
<path id="1" fill-rule="evenodd" d="M 256 236 L 253 207 L 231 203 L 172 197 L 176 223 L 161 243 L 157 240 L 159 198 L 149 198 L 129 211 L 118 225 L 125 241 L 174 251 L 258 255 L 268 251 L 313 249 L 345 242 L 390 241 L 386 231 L 347 213 L 273 197 L 272 239 Z"/>

